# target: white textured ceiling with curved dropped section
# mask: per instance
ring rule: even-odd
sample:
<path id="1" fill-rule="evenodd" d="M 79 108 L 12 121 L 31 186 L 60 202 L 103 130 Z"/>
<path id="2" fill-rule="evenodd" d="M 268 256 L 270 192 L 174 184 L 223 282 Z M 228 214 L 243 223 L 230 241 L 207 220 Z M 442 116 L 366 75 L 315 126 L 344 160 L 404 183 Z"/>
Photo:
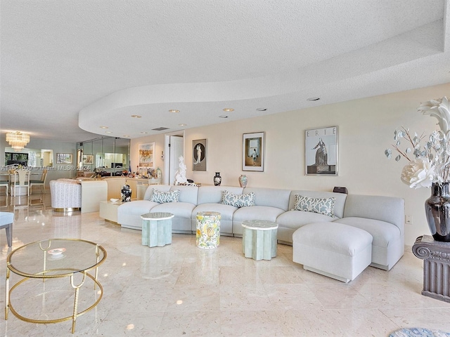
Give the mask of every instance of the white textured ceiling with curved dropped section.
<path id="1" fill-rule="evenodd" d="M 446 0 L 0 0 L 1 132 L 137 138 L 447 83 L 449 15 Z"/>

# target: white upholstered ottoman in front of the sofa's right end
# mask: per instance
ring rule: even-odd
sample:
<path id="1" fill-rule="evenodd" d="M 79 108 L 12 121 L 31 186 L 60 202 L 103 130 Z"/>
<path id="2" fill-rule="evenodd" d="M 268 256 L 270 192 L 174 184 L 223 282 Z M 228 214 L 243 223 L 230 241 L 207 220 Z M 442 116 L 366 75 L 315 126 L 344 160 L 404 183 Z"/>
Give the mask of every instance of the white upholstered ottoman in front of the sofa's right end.
<path id="1" fill-rule="evenodd" d="M 342 223 L 310 223 L 293 234 L 293 261 L 347 283 L 371 264 L 372 239 L 365 230 Z"/>

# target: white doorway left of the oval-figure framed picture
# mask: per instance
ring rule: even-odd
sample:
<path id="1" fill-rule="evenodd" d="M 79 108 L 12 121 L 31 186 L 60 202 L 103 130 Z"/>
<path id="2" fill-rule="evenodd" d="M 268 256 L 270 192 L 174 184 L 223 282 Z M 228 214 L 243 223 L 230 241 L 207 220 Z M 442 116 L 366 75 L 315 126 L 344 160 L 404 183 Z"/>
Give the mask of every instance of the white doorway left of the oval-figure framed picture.
<path id="1" fill-rule="evenodd" d="M 165 185 L 174 185 L 175 173 L 179 167 L 179 157 L 184 157 L 184 131 L 167 133 L 164 149 L 164 171 L 168 172 L 164 175 L 164 183 Z"/>

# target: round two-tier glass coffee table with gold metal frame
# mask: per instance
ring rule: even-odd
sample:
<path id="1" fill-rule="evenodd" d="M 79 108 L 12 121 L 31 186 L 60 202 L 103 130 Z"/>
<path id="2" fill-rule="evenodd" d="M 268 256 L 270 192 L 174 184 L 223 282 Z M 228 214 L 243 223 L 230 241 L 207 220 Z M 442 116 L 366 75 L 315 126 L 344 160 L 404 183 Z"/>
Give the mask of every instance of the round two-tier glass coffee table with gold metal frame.
<path id="1" fill-rule="evenodd" d="M 8 319 L 9 310 L 18 319 L 30 323 L 58 323 L 72 319 L 72 333 L 74 333 L 77 317 L 98 305 L 103 296 L 103 287 L 98 282 L 97 276 L 98 266 L 105 259 L 106 251 L 102 246 L 82 239 L 46 239 L 25 244 L 11 251 L 6 259 L 5 319 Z M 91 275 L 90 271 L 93 271 L 94 275 Z M 22 278 L 9 289 L 11 272 Z M 36 279 L 39 279 L 40 284 L 36 284 Z M 37 317 L 30 317 L 29 315 L 25 317 L 25 314 L 20 314 L 19 311 L 23 310 L 23 308 L 20 310 L 14 308 L 11 301 L 11 298 L 14 298 L 15 301 L 19 300 L 20 297 L 13 296 L 13 291 L 21 286 L 20 289 L 26 291 L 27 298 L 41 298 L 42 303 L 38 303 L 38 305 L 44 307 L 46 297 L 48 299 L 50 297 L 49 292 L 51 292 L 50 289 L 45 289 L 49 279 L 61 279 L 60 282 L 68 282 L 70 284 L 70 287 L 69 284 L 64 284 L 64 286 L 72 290 L 60 291 L 60 293 L 56 290 L 56 293 L 53 293 L 53 295 L 58 296 L 58 294 L 70 293 L 70 295 L 63 296 L 59 302 L 65 303 L 67 300 L 72 299 L 73 310 L 70 309 L 71 312 L 63 312 L 61 310 L 64 317 L 59 317 L 59 315 L 63 315 L 58 310 L 62 305 L 58 304 L 58 300 L 56 300 L 54 302 L 56 305 L 53 305 L 51 308 L 56 310 L 56 315 L 59 314 L 58 317 L 41 319 L 42 317 L 39 317 L 39 315 L 36 315 Z M 79 291 L 88 279 L 91 279 L 92 284 L 94 284 L 94 290 L 98 286 L 98 291 L 95 292 L 94 298 L 87 305 L 85 304 L 86 300 L 83 300 L 82 303 L 87 308 L 82 308 L 82 311 L 78 311 Z M 30 282 L 32 283 L 30 284 Z M 41 290 L 41 287 L 44 287 L 44 291 Z M 31 291 L 33 289 L 39 289 L 37 296 L 32 296 Z M 36 310 L 30 309 L 28 311 L 29 313 L 34 313 Z M 48 315 L 44 315 L 44 317 L 48 318 Z"/>

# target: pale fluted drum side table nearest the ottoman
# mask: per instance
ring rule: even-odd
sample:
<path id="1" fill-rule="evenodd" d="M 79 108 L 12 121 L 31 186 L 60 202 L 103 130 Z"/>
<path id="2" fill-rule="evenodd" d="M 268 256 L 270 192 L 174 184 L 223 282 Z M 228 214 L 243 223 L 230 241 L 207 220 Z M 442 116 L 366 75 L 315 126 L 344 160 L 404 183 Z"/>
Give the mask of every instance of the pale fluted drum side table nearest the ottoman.
<path id="1" fill-rule="evenodd" d="M 276 256 L 278 223 L 268 220 L 245 220 L 243 228 L 243 253 L 254 260 L 271 260 Z"/>

